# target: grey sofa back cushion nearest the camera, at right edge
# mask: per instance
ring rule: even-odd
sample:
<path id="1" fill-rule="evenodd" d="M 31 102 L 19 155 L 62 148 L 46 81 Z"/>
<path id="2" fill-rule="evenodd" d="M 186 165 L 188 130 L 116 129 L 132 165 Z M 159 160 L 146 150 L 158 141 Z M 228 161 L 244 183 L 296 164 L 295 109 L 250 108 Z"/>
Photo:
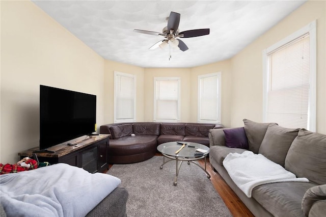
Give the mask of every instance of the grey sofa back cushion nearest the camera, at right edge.
<path id="1" fill-rule="evenodd" d="M 326 184 L 326 135 L 300 129 L 285 158 L 285 169 L 297 177 Z"/>

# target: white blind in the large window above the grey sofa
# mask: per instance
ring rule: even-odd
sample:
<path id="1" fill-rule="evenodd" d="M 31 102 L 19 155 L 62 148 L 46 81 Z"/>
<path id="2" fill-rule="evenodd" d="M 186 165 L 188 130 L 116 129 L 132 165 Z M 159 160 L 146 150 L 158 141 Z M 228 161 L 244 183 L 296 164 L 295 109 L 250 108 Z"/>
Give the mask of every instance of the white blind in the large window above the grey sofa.
<path id="1" fill-rule="evenodd" d="M 309 34 L 267 54 L 267 122 L 309 128 Z"/>

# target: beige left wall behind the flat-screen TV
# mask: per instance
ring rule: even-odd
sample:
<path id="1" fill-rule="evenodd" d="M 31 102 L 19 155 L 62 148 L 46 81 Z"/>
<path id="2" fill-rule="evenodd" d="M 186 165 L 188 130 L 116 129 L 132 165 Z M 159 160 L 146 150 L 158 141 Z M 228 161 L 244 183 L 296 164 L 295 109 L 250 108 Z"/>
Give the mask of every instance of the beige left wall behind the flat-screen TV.
<path id="1" fill-rule="evenodd" d="M 39 86 L 97 95 L 103 124 L 104 59 L 29 1 L 1 1 L 1 159 L 39 145 Z"/>

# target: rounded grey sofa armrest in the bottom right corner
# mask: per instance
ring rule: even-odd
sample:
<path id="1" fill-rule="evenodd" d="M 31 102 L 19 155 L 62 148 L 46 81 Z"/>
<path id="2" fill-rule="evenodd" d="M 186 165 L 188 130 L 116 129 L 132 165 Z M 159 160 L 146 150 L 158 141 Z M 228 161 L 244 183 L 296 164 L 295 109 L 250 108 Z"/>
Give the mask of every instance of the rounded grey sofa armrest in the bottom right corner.
<path id="1" fill-rule="evenodd" d="M 326 184 L 311 187 L 302 199 L 302 211 L 306 216 L 326 210 Z"/>

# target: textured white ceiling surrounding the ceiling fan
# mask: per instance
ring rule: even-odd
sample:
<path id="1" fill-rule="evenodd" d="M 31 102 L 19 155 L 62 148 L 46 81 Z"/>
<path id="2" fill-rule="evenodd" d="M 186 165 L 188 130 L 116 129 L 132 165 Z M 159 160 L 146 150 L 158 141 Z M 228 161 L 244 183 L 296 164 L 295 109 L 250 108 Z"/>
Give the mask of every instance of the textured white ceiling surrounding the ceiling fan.
<path id="1" fill-rule="evenodd" d="M 33 1 L 107 60 L 149 67 L 195 67 L 233 57 L 305 1 Z M 210 29 L 183 38 L 188 50 L 149 50 L 162 36 L 170 12 L 181 14 L 180 32 Z"/>

